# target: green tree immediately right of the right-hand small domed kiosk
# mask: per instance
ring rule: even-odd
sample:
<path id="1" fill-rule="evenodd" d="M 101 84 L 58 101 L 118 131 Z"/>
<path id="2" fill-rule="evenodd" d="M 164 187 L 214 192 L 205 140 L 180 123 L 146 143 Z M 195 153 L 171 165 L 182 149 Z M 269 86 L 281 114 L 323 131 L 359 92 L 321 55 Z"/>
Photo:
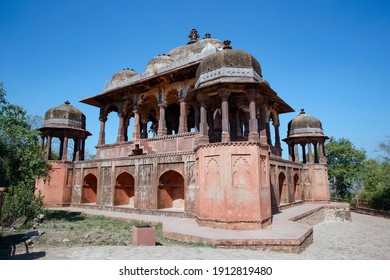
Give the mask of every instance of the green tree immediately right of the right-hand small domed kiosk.
<path id="1" fill-rule="evenodd" d="M 331 137 L 325 144 L 329 183 L 333 197 L 351 199 L 354 186 L 363 175 L 364 150 L 358 150 L 346 138 Z"/>

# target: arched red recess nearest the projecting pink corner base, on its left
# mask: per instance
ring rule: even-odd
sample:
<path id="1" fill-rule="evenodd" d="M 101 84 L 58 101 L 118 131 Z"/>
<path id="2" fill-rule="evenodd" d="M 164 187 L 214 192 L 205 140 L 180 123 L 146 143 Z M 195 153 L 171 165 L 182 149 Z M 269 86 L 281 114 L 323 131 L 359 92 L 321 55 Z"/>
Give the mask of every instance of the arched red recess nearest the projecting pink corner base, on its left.
<path id="1" fill-rule="evenodd" d="M 184 178 L 176 171 L 167 171 L 160 177 L 157 190 L 157 208 L 184 208 Z"/>

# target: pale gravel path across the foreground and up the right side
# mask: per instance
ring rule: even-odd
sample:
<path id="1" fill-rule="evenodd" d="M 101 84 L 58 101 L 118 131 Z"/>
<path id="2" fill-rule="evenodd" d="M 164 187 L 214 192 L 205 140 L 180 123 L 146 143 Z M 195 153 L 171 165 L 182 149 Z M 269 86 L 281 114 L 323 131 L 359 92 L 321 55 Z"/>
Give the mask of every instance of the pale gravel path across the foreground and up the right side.
<path id="1" fill-rule="evenodd" d="M 314 242 L 302 254 L 204 247 L 112 246 L 34 248 L 31 258 L 44 260 L 390 260 L 390 220 L 352 213 L 352 222 L 325 222 L 316 225 Z"/>

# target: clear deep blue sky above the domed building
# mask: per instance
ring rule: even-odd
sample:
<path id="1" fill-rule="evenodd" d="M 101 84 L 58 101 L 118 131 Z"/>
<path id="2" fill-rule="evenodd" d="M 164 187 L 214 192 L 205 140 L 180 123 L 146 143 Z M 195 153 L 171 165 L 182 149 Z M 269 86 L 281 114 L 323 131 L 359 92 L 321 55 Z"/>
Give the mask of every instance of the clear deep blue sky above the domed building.
<path id="1" fill-rule="evenodd" d="M 371 157 L 390 136 L 390 1 L 0 0 L 0 81 L 31 115 L 69 100 L 87 117 L 94 153 L 99 110 L 78 101 L 123 68 L 143 72 L 192 28 L 260 62 L 296 110 L 281 116 L 281 137 L 300 108 Z M 119 120 L 110 118 L 115 139 Z"/>

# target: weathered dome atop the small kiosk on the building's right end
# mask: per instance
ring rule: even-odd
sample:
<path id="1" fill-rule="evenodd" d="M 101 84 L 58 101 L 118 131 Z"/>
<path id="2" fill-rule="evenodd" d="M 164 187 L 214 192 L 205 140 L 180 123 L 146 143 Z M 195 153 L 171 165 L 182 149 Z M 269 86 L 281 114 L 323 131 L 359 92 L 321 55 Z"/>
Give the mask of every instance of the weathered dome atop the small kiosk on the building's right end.
<path id="1" fill-rule="evenodd" d="M 288 137 L 323 135 L 321 121 L 306 114 L 304 109 L 301 109 L 301 112 L 288 124 Z"/>

